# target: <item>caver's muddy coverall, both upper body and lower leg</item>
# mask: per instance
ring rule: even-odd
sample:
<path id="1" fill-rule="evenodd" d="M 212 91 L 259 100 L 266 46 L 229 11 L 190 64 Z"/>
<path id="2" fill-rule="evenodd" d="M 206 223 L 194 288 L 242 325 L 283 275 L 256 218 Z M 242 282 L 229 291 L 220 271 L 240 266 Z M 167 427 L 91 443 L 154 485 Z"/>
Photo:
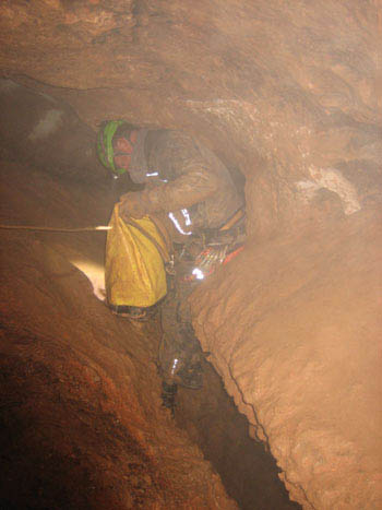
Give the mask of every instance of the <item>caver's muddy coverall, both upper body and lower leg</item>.
<path id="1" fill-rule="evenodd" d="M 172 239 L 178 242 L 191 232 L 220 228 L 243 206 L 224 164 L 212 151 L 180 131 L 141 130 L 129 174 L 135 182 L 148 185 L 121 198 L 122 218 L 170 215 Z M 180 299 L 184 301 L 186 296 L 183 290 L 179 296 L 178 288 L 176 296 L 169 296 L 162 307 L 165 334 L 159 365 L 165 378 L 171 371 L 174 375 L 175 359 L 178 368 L 190 366 L 200 351 L 190 323 L 177 322 L 176 305 Z"/>

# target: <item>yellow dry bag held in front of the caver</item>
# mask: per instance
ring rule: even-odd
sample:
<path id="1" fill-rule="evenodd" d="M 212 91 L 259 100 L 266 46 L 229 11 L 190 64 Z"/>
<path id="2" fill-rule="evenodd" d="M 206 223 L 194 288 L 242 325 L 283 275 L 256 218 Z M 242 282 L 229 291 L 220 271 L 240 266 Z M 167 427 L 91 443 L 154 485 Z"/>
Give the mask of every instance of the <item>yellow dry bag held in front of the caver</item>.
<path id="1" fill-rule="evenodd" d="M 135 225 L 135 226 L 133 226 Z M 167 293 L 165 240 L 154 222 L 145 216 L 126 223 L 115 206 L 106 242 L 105 284 L 107 299 L 115 306 L 150 307 Z"/>

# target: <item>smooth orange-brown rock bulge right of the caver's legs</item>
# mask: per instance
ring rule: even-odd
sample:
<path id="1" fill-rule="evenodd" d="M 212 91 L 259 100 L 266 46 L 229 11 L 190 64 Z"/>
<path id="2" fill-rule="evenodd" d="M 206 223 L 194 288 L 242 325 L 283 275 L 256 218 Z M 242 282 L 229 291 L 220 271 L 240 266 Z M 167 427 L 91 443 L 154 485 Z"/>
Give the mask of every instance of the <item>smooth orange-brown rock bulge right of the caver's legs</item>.
<path id="1" fill-rule="evenodd" d="M 381 225 L 371 211 L 247 247 L 193 299 L 203 348 L 305 508 L 381 507 Z"/>

